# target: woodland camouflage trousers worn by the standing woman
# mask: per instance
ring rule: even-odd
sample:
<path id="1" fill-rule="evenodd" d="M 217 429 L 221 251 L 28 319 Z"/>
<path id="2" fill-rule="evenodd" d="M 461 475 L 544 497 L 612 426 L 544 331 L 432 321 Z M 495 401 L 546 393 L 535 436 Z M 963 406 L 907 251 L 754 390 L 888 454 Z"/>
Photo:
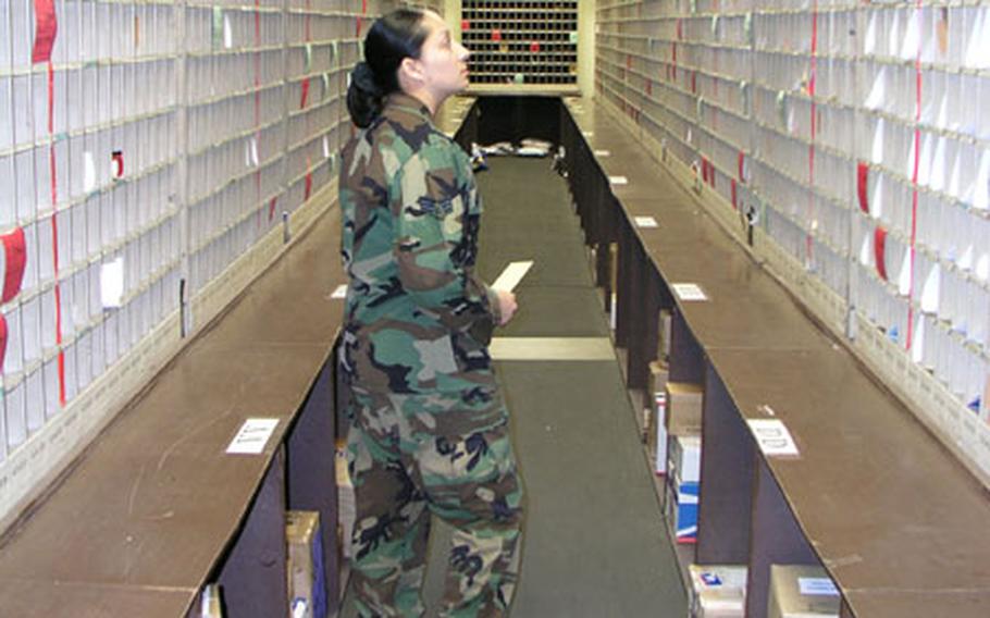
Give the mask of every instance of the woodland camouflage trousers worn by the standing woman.
<path id="1" fill-rule="evenodd" d="M 351 393 L 351 591 L 361 616 L 422 616 L 431 515 L 454 528 L 441 616 L 506 616 L 522 486 L 496 388 Z"/>

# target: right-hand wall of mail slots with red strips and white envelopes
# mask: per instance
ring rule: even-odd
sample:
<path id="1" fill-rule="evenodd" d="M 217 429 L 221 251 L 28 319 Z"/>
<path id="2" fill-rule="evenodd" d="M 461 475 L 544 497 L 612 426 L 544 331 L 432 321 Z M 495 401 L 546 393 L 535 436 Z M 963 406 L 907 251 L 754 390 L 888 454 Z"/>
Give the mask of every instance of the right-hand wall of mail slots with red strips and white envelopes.
<path id="1" fill-rule="evenodd" d="M 597 97 L 990 473 L 990 2 L 604 1 L 596 30 Z"/>

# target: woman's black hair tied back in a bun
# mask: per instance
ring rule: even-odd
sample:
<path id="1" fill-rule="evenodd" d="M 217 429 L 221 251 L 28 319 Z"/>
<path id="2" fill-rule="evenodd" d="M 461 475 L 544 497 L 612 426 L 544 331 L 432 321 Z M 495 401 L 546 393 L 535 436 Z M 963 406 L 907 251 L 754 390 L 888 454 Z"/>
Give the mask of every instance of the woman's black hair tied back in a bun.
<path id="1" fill-rule="evenodd" d="M 376 20 L 364 37 L 364 61 L 350 73 L 347 111 L 361 128 L 382 113 L 385 97 L 399 90 L 398 67 L 406 58 L 419 58 L 430 34 L 423 12 L 398 9 Z"/>

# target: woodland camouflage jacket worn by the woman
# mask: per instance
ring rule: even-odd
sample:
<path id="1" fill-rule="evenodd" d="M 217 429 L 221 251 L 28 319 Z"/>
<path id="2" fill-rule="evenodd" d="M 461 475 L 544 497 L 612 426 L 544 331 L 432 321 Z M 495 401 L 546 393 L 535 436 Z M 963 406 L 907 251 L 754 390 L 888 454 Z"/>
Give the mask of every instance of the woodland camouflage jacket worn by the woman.
<path id="1" fill-rule="evenodd" d="M 344 148 L 341 367 L 370 392 L 494 385 L 497 296 L 473 273 L 481 196 L 468 156 L 405 94 Z"/>

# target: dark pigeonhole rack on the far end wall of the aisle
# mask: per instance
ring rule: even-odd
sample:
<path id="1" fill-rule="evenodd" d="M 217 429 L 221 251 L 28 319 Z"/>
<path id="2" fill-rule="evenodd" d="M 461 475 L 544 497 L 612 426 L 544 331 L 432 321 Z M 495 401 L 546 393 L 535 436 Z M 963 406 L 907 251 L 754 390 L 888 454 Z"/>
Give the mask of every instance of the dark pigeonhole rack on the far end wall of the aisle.
<path id="1" fill-rule="evenodd" d="M 578 83 L 578 2 L 467 0 L 461 17 L 472 84 Z"/>

